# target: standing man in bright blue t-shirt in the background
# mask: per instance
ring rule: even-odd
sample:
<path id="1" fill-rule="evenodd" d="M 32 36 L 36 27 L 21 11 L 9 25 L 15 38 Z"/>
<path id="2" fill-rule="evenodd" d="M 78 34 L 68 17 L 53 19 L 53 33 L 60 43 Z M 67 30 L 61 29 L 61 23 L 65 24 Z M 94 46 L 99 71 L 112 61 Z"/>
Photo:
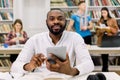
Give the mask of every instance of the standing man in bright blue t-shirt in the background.
<path id="1" fill-rule="evenodd" d="M 90 30 L 92 28 L 93 23 L 91 21 L 91 17 L 86 13 L 86 3 L 85 1 L 80 1 L 78 3 L 78 11 L 75 14 L 72 14 L 67 30 L 70 31 L 74 29 L 83 37 L 86 44 L 91 45 L 92 33 Z"/>

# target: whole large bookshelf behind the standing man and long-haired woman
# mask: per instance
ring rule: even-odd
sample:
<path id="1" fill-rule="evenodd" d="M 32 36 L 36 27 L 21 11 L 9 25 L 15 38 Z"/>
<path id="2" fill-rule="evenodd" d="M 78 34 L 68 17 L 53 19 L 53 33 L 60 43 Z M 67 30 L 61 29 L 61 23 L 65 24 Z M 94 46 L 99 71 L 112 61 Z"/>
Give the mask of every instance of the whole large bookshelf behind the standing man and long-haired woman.
<path id="1" fill-rule="evenodd" d="M 50 8 L 60 8 L 63 11 L 65 11 L 65 14 L 67 16 L 67 20 L 70 19 L 71 14 L 73 14 L 74 12 L 76 12 L 78 10 L 78 2 L 80 0 L 51 0 L 50 2 Z M 84 0 L 83 0 L 84 1 Z M 86 0 L 86 4 L 87 4 L 87 13 L 91 16 L 92 21 L 94 23 L 94 26 L 96 25 L 96 22 L 99 20 L 100 18 L 100 13 L 101 13 L 101 8 L 102 7 L 107 7 L 110 11 L 110 14 L 112 17 L 114 17 L 116 20 L 120 21 L 120 0 Z M 119 27 L 120 27 L 120 22 L 118 23 Z M 95 28 L 93 28 L 92 32 L 93 32 L 93 37 L 92 37 L 92 44 L 96 44 L 96 35 L 95 35 Z M 93 55 L 94 56 L 94 55 Z M 120 55 L 117 55 L 118 57 Z M 97 55 L 97 59 L 98 57 L 100 58 L 100 55 Z M 110 56 L 110 58 L 114 57 Z M 117 61 L 117 59 L 116 59 Z M 100 59 L 101 62 L 101 59 Z M 109 62 L 110 64 L 110 62 Z M 117 63 L 116 63 L 117 64 Z M 101 63 L 100 63 L 101 65 Z M 101 70 L 101 66 L 98 65 L 96 66 L 95 70 Z M 111 68 L 112 66 L 112 68 Z M 114 65 L 110 64 L 110 68 L 111 70 L 115 70 L 115 68 L 113 67 L 119 67 L 118 65 Z M 118 68 L 117 68 L 118 70 Z"/>

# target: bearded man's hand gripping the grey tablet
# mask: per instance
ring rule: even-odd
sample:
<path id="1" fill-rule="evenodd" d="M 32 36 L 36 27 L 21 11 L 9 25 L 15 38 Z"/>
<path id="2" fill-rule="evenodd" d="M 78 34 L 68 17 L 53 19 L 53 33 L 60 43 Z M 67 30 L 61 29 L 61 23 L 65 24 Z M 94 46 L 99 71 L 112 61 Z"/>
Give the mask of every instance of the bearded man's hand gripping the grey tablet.
<path id="1" fill-rule="evenodd" d="M 69 60 L 68 54 L 66 55 L 65 61 L 60 61 L 60 59 L 53 54 L 51 58 L 56 63 L 50 64 L 48 61 L 46 61 L 46 66 L 48 70 L 59 72 L 59 73 L 64 73 L 64 74 L 72 75 L 72 76 L 79 74 L 79 71 L 76 68 L 72 68 L 70 66 L 70 60 Z"/>

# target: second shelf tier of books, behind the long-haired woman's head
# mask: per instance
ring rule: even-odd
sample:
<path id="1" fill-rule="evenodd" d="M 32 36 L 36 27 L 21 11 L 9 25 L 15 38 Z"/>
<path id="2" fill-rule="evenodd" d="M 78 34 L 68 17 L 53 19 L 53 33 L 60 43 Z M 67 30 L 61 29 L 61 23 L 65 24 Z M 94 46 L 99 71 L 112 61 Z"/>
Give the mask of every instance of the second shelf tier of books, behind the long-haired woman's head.
<path id="1" fill-rule="evenodd" d="M 99 20 L 102 7 L 107 7 L 110 11 L 110 15 L 116 18 L 116 20 L 120 20 L 120 6 L 88 6 L 89 15 L 92 17 L 93 22 Z"/>

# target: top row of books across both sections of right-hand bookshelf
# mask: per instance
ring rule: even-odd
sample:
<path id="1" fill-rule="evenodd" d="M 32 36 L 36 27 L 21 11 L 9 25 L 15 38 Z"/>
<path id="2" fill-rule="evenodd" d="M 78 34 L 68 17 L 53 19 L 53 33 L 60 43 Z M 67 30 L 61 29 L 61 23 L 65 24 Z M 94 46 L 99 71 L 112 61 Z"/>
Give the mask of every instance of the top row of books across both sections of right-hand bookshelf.
<path id="1" fill-rule="evenodd" d="M 51 0 L 51 6 L 77 6 L 84 0 Z M 120 0 L 88 0 L 89 6 L 120 6 Z"/>

